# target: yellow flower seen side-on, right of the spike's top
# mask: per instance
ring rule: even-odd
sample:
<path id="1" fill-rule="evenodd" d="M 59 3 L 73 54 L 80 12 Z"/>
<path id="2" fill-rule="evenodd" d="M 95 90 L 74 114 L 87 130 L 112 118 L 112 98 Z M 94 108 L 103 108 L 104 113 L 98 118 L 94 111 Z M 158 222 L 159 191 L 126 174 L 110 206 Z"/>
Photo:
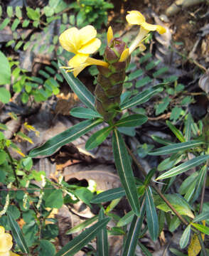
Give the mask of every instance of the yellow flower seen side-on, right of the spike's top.
<path id="1" fill-rule="evenodd" d="M 134 42 L 129 47 L 129 53 L 132 53 L 137 47 L 141 47 L 141 50 L 145 49 L 145 46 L 142 44 L 142 41 L 146 38 L 146 35 L 149 31 L 158 31 L 160 34 L 166 32 L 166 28 L 160 25 L 152 25 L 146 22 L 146 19 L 139 11 L 128 11 L 128 15 L 126 16 L 127 22 L 130 25 L 139 25 L 139 33 L 136 36 Z"/>

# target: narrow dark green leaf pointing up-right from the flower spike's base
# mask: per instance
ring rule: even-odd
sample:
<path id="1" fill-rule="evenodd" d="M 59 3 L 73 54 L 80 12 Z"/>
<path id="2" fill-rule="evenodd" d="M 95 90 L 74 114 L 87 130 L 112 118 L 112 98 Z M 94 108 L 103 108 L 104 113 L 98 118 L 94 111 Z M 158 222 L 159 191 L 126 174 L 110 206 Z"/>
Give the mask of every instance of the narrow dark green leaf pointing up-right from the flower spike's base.
<path id="1" fill-rule="evenodd" d="M 123 102 L 121 110 L 126 110 L 129 107 L 134 107 L 136 105 L 142 104 L 148 101 L 152 96 L 156 95 L 157 93 L 161 92 L 163 89 L 161 87 L 156 89 L 148 89 L 140 92 L 139 95 L 132 97 L 130 100 Z"/>

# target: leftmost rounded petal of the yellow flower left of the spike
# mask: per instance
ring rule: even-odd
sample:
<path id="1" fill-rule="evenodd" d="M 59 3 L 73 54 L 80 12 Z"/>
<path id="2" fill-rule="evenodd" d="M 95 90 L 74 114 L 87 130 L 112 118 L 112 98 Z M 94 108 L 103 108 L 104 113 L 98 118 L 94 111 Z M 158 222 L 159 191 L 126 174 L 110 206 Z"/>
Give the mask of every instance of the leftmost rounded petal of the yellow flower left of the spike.
<path id="1" fill-rule="evenodd" d="M 60 45 L 71 53 L 77 53 L 77 45 L 79 44 L 78 34 L 77 28 L 68 28 L 60 35 Z"/>

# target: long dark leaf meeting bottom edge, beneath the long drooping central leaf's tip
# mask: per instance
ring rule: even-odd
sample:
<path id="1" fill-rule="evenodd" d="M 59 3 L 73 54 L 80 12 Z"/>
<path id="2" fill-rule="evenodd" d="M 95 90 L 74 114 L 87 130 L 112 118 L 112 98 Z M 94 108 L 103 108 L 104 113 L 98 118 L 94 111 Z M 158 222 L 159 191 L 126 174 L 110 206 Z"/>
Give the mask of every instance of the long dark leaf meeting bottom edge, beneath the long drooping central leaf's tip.
<path id="1" fill-rule="evenodd" d="M 145 213 L 144 205 L 145 203 L 143 202 L 139 217 L 134 215 L 122 256 L 132 256 L 135 253 L 136 245 L 139 240 L 139 234 L 141 232 L 141 225 L 144 219 L 144 213 Z"/>

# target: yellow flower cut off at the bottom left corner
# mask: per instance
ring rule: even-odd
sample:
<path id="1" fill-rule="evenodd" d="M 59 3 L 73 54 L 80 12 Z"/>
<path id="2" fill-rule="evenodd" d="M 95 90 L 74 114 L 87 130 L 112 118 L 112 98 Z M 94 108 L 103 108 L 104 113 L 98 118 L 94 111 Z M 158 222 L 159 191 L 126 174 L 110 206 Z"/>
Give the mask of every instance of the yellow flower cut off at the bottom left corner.
<path id="1" fill-rule="evenodd" d="M 18 256 L 16 253 L 10 251 L 12 245 L 11 235 L 5 233 L 4 227 L 0 226 L 0 256 Z"/>

